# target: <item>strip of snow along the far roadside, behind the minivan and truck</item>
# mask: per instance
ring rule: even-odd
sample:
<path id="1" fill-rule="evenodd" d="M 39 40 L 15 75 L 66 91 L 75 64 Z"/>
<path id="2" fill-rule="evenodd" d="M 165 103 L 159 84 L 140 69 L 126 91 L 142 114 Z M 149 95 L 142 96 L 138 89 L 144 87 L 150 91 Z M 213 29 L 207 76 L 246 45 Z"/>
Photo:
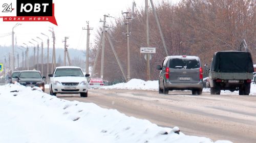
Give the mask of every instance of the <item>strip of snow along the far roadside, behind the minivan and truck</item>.
<path id="1" fill-rule="evenodd" d="M 158 91 L 158 80 L 153 81 L 144 81 L 141 79 L 131 79 L 126 83 L 117 83 L 110 86 L 102 87 L 101 89 L 111 90 L 152 90 Z M 210 92 L 210 89 L 203 89 L 203 92 Z M 221 91 L 223 94 L 238 94 L 238 91 L 230 92 L 230 91 Z M 250 95 L 256 94 L 256 84 L 251 84 Z"/>

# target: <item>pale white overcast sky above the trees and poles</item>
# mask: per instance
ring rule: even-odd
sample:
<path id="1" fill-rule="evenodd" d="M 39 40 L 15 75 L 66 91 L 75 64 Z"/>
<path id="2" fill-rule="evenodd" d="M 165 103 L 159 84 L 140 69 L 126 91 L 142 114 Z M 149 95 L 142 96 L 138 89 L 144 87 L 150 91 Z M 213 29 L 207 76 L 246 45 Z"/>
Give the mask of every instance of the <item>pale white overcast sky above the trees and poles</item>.
<path id="1" fill-rule="evenodd" d="M 126 11 L 127 8 L 132 8 L 133 1 L 136 2 L 137 9 L 144 7 L 144 0 L 94 0 L 94 1 L 63 1 L 63 0 L 53 0 L 55 4 L 55 18 L 57 20 L 58 26 L 50 22 L 20 22 L 19 25 L 14 28 L 14 32 L 17 37 L 17 45 L 23 45 L 22 43 L 27 43 L 32 46 L 28 41 L 31 39 L 38 40 L 36 37 L 44 38 L 44 44 L 46 45 L 47 37 L 41 35 L 40 33 L 47 34 L 50 38 L 50 47 L 52 47 L 51 33 L 48 31 L 50 27 L 54 28 L 56 37 L 56 47 L 62 48 L 64 43 L 62 40 L 65 36 L 68 36 L 69 48 L 85 49 L 86 48 L 86 30 L 82 30 L 82 27 L 86 27 L 86 21 L 90 21 L 90 27 L 94 30 L 91 31 L 90 43 L 93 43 L 94 37 L 96 35 L 97 29 L 102 25 L 99 22 L 103 19 L 104 14 L 110 14 L 113 17 L 121 16 L 121 11 Z M 155 5 L 163 0 L 155 0 Z M 166 0 L 175 3 L 179 0 Z M 150 0 L 148 0 L 150 4 Z M 110 22 L 110 19 L 107 19 Z M 17 22 L 3 22 L 0 19 L 0 45 L 11 45 L 11 36 L 2 37 L 6 33 L 11 33 L 12 27 Z M 31 41 L 33 42 L 33 41 Z M 36 44 L 36 42 L 33 42 Z"/>

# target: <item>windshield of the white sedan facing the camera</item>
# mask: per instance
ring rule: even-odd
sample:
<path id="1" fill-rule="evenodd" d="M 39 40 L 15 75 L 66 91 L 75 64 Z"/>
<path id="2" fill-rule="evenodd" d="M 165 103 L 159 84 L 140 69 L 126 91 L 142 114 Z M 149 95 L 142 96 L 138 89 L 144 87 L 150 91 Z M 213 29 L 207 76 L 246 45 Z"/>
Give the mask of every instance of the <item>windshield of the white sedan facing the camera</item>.
<path id="1" fill-rule="evenodd" d="M 55 77 L 59 77 L 59 76 L 80 76 L 80 77 L 84 77 L 82 71 L 78 68 L 56 69 Z"/>

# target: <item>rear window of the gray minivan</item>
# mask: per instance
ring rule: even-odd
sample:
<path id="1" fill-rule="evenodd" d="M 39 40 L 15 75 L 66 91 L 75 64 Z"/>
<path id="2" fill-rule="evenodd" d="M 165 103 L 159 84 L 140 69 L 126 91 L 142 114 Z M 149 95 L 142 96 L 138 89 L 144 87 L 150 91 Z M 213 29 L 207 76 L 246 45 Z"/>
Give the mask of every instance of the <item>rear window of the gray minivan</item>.
<path id="1" fill-rule="evenodd" d="M 197 59 L 170 59 L 169 68 L 173 69 L 197 69 L 200 68 L 199 61 Z"/>

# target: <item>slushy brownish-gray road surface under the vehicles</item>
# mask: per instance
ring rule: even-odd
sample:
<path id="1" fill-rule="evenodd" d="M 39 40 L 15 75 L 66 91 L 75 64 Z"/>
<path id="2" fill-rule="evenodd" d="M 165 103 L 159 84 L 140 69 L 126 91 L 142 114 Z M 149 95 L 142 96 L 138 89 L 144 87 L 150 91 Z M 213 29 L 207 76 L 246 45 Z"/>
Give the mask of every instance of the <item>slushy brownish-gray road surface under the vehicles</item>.
<path id="1" fill-rule="evenodd" d="M 49 89 L 46 89 L 49 93 Z M 186 135 L 233 143 L 256 142 L 256 96 L 192 96 L 191 92 L 93 89 L 87 98 L 78 94 L 58 98 L 92 102 L 103 108 L 117 109 L 127 116 L 146 119 L 162 127 L 178 126 Z"/>

